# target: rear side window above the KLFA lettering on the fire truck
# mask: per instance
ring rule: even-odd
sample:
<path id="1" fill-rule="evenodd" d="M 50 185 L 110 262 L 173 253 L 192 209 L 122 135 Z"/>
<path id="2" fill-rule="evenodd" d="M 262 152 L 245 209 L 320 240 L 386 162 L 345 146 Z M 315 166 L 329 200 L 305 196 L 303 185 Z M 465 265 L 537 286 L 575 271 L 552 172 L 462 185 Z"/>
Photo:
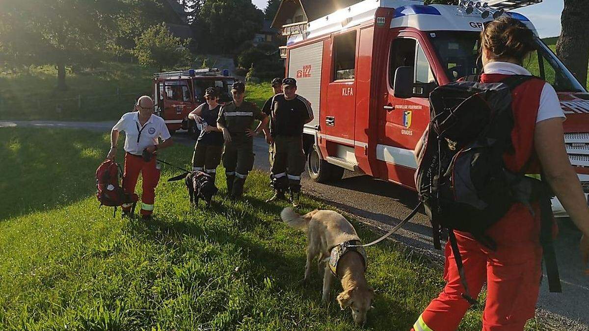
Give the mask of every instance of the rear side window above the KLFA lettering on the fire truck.
<path id="1" fill-rule="evenodd" d="M 356 31 L 333 38 L 335 53 L 333 80 L 353 80 L 356 68 Z"/>

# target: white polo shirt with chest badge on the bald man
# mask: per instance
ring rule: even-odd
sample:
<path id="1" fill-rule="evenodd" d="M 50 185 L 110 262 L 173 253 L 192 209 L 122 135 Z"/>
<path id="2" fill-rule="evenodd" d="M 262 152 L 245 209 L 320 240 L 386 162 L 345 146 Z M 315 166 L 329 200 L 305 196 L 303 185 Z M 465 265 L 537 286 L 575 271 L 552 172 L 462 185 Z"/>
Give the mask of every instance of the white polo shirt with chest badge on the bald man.
<path id="1" fill-rule="evenodd" d="M 134 155 L 143 154 L 143 150 L 151 145 L 157 145 L 157 138 L 170 139 L 170 131 L 164 119 L 151 114 L 150 119 L 141 127 L 138 112 L 127 112 L 112 127 L 112 130 L 125 131 L 125 151 Z"/>

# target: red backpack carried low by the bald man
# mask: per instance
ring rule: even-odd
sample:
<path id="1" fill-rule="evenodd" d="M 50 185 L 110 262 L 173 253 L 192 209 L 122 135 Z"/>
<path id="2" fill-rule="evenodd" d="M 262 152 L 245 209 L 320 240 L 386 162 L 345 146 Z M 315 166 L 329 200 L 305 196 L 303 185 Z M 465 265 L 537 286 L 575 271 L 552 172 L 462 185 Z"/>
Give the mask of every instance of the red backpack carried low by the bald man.
<path id="1" fill-rule="evenodd" d="M 117 213 L 117 207 L 123 204 L 133 204 L 131 213 L 135 210 L 135 205 L 139 197 L 137 194 L 127 194 L 120 185 L 119 176 L 123 174 L 121 167 L 112 160 L 105 160 L 96 170 L 96 197 L 100 201 L 100 206 L 114 207 L 114 213 Z"/>

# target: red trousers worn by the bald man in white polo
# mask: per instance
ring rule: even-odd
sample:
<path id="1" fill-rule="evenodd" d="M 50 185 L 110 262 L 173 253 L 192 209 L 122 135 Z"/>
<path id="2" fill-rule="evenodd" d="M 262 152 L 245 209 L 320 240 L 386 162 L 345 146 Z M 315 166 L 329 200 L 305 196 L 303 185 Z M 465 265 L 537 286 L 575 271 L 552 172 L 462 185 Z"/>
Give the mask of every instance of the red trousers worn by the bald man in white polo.
<path id="1" fill-rule="evenodd" d="M 153 213 L 153 204 L 155 200 L 155 187 L 160 181 L 160 170 L 156 167 L 155 157 L 151 161 L 145 162 L 143 157 L 125 153 L 125 170 L 123 174 L 123 188 L 125 193 L 134 193 L 137 179 L 141 173 L 143 177 L 143 193 L 141 194 L 141 215 L 149 216 Z M 123 207 L 123 211 L 128 212 L 131 207 Z"/>

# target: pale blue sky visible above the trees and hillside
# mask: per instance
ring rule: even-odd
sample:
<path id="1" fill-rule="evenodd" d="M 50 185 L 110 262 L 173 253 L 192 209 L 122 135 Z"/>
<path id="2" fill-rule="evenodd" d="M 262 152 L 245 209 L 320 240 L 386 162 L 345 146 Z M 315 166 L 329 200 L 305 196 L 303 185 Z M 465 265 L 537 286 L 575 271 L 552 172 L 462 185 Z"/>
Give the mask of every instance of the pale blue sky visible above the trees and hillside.
<path id="1" fill-rule="evenodd" d="M 252 0 L 260 9 L 266 8 L 267 0 Z M 564 0 L 544 0 L 541 4 L 518 9 L 532 21 L 540 38 L 557 37 L 560 35 L 560 14 L 564 8 Z"/>

